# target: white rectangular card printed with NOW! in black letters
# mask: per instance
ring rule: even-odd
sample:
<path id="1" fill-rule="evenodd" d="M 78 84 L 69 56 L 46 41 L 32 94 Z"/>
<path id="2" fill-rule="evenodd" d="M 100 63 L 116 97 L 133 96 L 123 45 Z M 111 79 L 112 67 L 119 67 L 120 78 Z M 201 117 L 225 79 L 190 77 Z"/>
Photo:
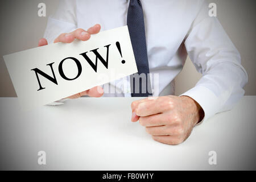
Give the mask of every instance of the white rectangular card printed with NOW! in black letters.
<path id="1" fill-rule="evenodd" d="M 127 26 L 91 35 L 85 42 L 49 44 L 3 59 L 25 110 L 138 72 Z"/>

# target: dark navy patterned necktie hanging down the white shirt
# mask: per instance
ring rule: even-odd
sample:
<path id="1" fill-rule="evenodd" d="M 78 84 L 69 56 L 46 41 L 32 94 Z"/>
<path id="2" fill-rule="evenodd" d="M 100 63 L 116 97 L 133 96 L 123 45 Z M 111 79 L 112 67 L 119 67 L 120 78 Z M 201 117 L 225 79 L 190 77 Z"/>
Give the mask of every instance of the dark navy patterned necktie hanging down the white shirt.
<path id="1" fill-rule="evenodd" d="M 152 95 L 152 89 L 150 84 L 146 35 L 141 1 L 130 0 L 127 12 L 127 26 L 138 68 L 138 73 L 130 76 L 131 97 L 148 97 Z"/>

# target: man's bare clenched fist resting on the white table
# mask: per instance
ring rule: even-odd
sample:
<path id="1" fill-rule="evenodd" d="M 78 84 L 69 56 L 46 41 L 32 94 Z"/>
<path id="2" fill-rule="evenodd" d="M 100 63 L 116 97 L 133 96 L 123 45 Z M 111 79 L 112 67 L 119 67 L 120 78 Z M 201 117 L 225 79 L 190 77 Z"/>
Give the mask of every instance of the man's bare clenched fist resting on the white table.
<path id="1" fill-rule="evenodd" d="M 148 97 L 131 104 L 131 121 L 139 120 L 158 142 L 180 144 L 204 118 L 201 106 L 187 96 Z"/>

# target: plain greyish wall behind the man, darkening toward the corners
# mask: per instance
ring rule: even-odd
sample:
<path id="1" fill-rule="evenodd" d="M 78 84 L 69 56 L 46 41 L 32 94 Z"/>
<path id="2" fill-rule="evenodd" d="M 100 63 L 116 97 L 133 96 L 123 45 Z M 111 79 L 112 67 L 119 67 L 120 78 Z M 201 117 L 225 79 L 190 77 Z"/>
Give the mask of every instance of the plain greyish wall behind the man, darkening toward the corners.
<path id="1" fill-rule="evenodd" d="M 256 95 L 255 0 L 208 1 L 217 4 L 218 19 L 241 53 L 242 65 L 249 75 L 245 94 Z M 46 17 L 38 16 L 40 2 L 46 3 Z M 2 56 L 36 47 L 43 37 L 48 16 L 55 12 L 59 0 L 2 0 L 0 3 L 0 97 L 16 97 Z M 188 57 L 183 71 L 176 77 L 175 94 L 192 88 L 200 77 Z"/>

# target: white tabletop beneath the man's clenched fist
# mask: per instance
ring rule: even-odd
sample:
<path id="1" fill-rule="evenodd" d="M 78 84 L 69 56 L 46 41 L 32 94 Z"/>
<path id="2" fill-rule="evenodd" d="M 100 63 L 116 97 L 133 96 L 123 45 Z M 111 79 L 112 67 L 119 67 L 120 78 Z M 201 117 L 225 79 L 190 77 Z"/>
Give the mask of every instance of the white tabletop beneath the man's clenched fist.
<path id="1" fill-rule="evenodd" d="M 155 142 L 130 121 L 135 99 L 79 98 L 24 112 L 17 98 L 0 98 L 1 169 L 256 169 L 256 96 L 196 126 L 177 146 Z M 46 151 L 46 165 L 38 151 Z"/>

